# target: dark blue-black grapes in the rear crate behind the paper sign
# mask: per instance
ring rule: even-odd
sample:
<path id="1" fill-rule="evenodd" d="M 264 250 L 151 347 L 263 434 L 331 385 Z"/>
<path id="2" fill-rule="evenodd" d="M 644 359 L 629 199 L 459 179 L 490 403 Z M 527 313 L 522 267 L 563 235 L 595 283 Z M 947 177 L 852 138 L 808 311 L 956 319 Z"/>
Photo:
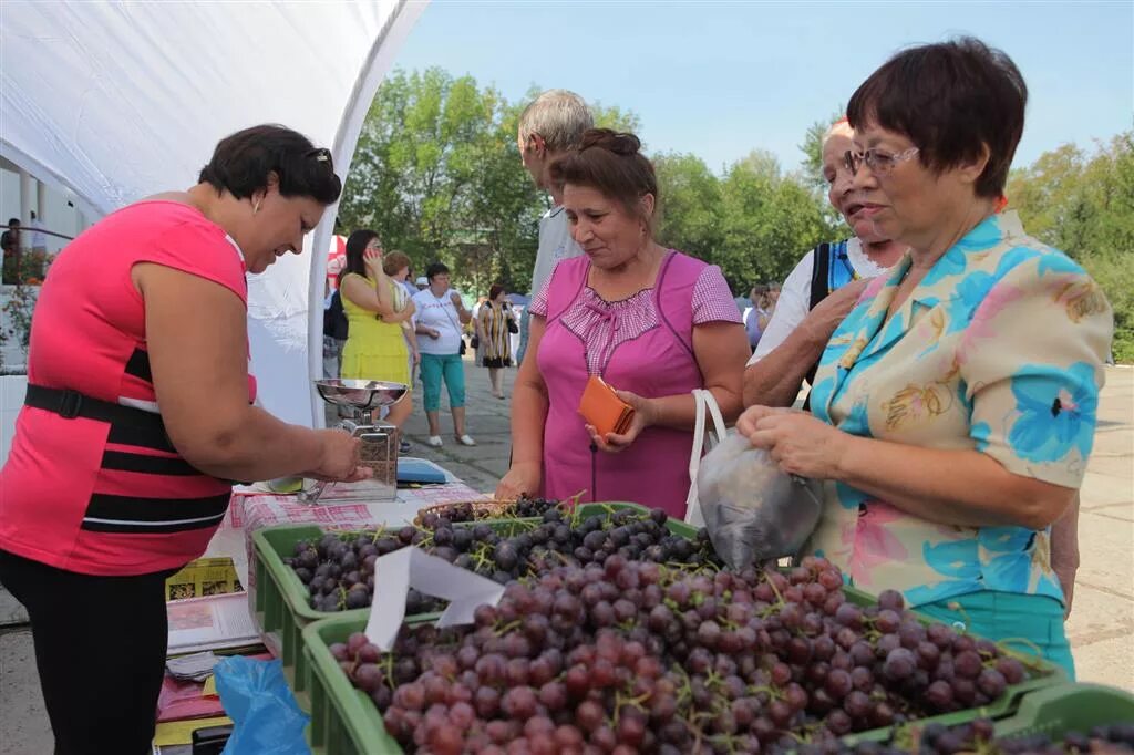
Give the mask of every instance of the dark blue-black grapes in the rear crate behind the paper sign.
<path id="1" fill-rule="evenodd" d="M 602 563 L 612 553 L 694 567 L 714 562 L 704 531 L 689 541 L 671 534 L 666 520 L 661 509 L 619 509 L 609 516 L 579 517 L 551 507 L 538 525 L 509 525 L 517 532 L 508 535 L 491 524 L 455 524 L 445 516 L 426 514 L 420 528 L 327 534 L 319 541 L 301 541 L 285 562 L 307 586 L 311 606 L 319 611 L 369 606 L 374 593 L 374 561 L 407 545 L 500 584 L 564 565 Z M 411 589 L 406 614 L 439 611 L 443 605 Z"/>

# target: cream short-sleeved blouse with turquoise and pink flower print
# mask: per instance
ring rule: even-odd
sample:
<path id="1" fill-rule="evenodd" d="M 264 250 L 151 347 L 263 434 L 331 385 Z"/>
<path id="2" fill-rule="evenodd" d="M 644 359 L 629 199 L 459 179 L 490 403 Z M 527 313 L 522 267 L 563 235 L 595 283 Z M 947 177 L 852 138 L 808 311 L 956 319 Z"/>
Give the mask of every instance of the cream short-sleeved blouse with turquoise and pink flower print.
<path id="1" fill-rule="evenodd" d="M 815 416 L 854 435 L 976 449 L 1014 474 L 1077 489 L 1114 330 L 1099 287 L 1025 236 L 1014 212 L 970 231 L 887 321 L 909 264 L 878 279 L 831 337 Z M 869 592 L 899 589 L 913 605 L 982 589 L 1064 600 L 1050 528 L 943 526 L 843 483 L 823 487 L 805 551 Z"/>

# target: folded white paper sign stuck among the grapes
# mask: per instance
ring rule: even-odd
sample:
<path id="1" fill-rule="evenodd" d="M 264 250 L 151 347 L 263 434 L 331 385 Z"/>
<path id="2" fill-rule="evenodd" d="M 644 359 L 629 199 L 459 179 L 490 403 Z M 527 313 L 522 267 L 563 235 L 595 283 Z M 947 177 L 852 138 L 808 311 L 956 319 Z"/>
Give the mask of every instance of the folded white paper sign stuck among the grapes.
<path id="1" fill-rule="evenodd" d="M 496 605 L 503 585 L 417 548 L 403 548 L 374 562 L 374 601 L 366 638 L 383 651 L 393 647 L 406 616 L 406 594 L 413 587 L 425 595 L 443 597 L 449 608 L 438 619 L 438 627 L 472 623 L 477 605 Z"/>

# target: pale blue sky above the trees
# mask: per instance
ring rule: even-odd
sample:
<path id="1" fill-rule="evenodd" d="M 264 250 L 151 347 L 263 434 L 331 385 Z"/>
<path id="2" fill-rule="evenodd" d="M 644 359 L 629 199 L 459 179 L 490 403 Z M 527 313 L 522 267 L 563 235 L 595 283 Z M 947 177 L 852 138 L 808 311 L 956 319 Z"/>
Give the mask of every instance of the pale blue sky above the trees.
<path id="1" fill-rule="evenodd" d="M 633 110 L 646 150 L 716 171 L 753 149 L 798 168 L 807 127 L 896 51 L 972 34 L 1030 91 L 1016 167 L 1134 128 L 1134 1 L 489 2 L 433 0 L 396 60 Z"/>

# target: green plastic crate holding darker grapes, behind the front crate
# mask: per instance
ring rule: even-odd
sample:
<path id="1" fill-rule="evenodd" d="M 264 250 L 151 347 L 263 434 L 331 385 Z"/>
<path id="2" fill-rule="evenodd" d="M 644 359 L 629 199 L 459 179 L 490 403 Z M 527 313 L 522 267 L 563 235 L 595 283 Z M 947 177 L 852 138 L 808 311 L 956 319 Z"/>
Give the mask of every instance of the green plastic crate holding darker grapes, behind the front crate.
<path id="1" fill-rule="evenodd" d="M 586 503 L 578 507 L 581 517 L 594 514 L 610 514 L 619 509 L 641 509 L 648 511 L 637 503 Z M 459 523 L 457 526 L 488 525 L 494 529 L 515 533 L 539 526 L 540 518 L 518 519 L 479 519 L 476 521 Z M 670 532 L 675 535 L 693 538 L 696 536 L 696 528 L 684 521 L 670 519 L 668 523 Z M 318 525 L 279 525 L 257 529 L 252 534 L 253 548 L 255 551 L 255 588 L 249 592 L 249 603 L 252 616 L 255 618 L 260 630 L 264 636 L 264 643 L 280 659 L 284 667 L 284 676 L 295 694 L 296 702 L 303 711 L 311 710 L 311 701 L 307 695 L 307 670 L 306 659 L 301 652 L 303 629 L 312 621 L 331 617 L 365 617 L 370 616 L 370 609 L 355 609 L 350 611 L 316 611 L 308 603 L 310 593 L 306 585 L 299 582 L 299 577 L 291 570 L 284 559 L 290 557 L 295 551 L 295 544 L 301 540 L 315 540 L 322 537 L 325 532 Z M 348 529 L 344 533 L 352 532 Z M 440 613 L 429 613 L 421 617 L 435 619 Z"/>

